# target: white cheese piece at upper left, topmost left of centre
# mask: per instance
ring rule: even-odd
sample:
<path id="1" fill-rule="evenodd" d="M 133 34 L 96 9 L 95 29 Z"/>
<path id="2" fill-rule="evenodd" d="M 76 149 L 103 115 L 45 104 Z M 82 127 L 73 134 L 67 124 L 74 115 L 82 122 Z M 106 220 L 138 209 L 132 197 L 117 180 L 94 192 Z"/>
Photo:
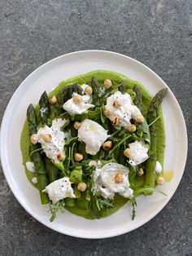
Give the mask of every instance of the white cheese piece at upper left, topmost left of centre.
<path id="1" fill-rule="evenodd" d="M 63 109 L 66 110 L 71 115 L 85 113 L 89 108 L 94 108 L 92 103 L 92 95 L 85 95 L 85 89 L 88 85 L 83 84 L 82 88 L 82 101 L 81 104 L 75 104 L 73 99 L 68 99 L 63 104 Z M 77 93 L 73 93 L 72 97 L 77 95 Z"/>

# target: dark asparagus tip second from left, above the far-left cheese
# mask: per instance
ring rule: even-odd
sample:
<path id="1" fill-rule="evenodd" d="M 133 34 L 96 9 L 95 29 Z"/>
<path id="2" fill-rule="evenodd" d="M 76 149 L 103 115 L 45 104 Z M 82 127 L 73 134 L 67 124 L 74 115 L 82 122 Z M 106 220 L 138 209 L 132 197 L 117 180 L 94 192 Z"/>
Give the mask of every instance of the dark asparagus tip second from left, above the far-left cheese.
<path id="1" fill-rule="evenodd" d="M 41 125 L 47 125 L 48 113 L 49 113 L 49 104 L 48 104 L 48 97 L 46 91 L 41 95 L 39 100 L 39 116 L 41 119 Z"/>

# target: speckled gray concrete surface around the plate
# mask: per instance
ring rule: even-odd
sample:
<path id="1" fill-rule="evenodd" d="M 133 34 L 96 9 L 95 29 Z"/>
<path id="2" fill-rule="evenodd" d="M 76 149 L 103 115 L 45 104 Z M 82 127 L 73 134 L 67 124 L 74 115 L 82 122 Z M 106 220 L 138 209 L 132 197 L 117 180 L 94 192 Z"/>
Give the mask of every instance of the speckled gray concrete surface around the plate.
<path id="1" fill-rule="evenodd" d="M 0 170 L 0 255 L 192 255 L 190 0 L 1 0 L 0 120 L 11 95 L 34 69 L 71 51 L 129 55 L 167 82 L 189 135 L 185 174 L 172 200 L 143 227 L 110 239 L 63 236 L 33 219 Z M 182 131 L 181 131 L 182 132 Z"/>

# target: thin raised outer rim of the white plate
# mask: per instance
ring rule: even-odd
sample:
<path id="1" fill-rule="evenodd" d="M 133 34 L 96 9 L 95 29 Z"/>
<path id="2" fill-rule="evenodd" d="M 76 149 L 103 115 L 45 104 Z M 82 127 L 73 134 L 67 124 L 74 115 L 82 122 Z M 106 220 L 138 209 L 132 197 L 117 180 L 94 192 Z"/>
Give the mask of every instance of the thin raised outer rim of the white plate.
<path id="1" fill-rule="evenodd" d="M 114 51 L 103 51 L 103 50 L 73 51 L 73 52 L 69 52 L 69 53 L 64 54 L 64 55 L 59 55 L 58 57 L 55 57 L 54 59 L 47 61 L 46 63 L 42 64 L 41 66 L 39 66 L 38 68 L 36 68 L 35 70 L 33 70 L 33 72 L 30 73 L 30 74 L 24 79 L 23 82 L 20 83 L 20 86 L 17 87 L 17 89 L 15 90 L 14 94 L 11 96 L 11 99 L 9 100 L 9 103 L 7 104 L 7 108 L 6 108 L 6 110 L 5 110 L 4 114 L 3 114 L 3 117 L 2 117 L 2 125 L 1 125 L 1 130 L 0 130 L 0 159 L 1 159 L 1 164 L 2 164 L 2 171 L 3 171 L 3 174 L 5 175 L 5 178 L 6 178 L 6 180 L 7 180 L 8 186 L 9 186 L 9 188 L 11 189 L 11 192 L 12 192 L 13 195 L 15 196 L 16 200 L 19 201 L 20 205 L 22 205 L 22 207 L 24 207 L 24 210 L 26 210 L 26 211 L 28 212 L 28 214 L 32 215 L 33 218 L 35 218 L 38 222 L 42 223 L 42 224 L 45 225 L 46 227 L 49 227 L 50 229 L 54 230 L 55 232 L 59 232 L 59 233 L 62 233 L 62 234 L 64 234 L 64 235 L 68 235 L 68 236 L 79 237 L 79 238 L 86 238 L 86 239 L 98 239 L 98 238 L 109 238 L 109 237 L 114 237 L 114 236 L 120 236 L 120 235 L 122 235 L 122 234 L 124 234 L 124 233 L 132 232 L 133 230 L 137 229 L 138 227 L 141 227 L 142 225 L 148 223 L 152 218 L 155 217 L 155 215 L 159 214 L 159 212 L 160 212 L 161 210 L 163 210 L 163 208 L 164 208 L 165 205 L 168 204 L 168 201 L 171 200 L 171 198 L 172 198 L 172 196 L 174 195 L 174 193 L 176 192 L 176 190 L 177 190 L 179 184 L 181 183 L 181 178 L 180 178 L 180 179 L 178 180 L 177 185 L 176 185 L 175 188 L 173 189 L 172 194 L 169 195 L 168 200 L 167 200 L 167 201 L 164 201 L 164 202 L 162 203 L 162 205 L 159 207 L 159 209 L 155 211 L 155 214 L 152 214 L 152 215 L 150 216 L 150 218 L 146 218 L 146 220 L 145 220 L 144 223 L 143 223 L 143 222 L 142 222 L 142 223 L 139 223 L 137 226 L 131 228 L 131 229 L 130 229 L 129 231 L 127 231 L 127 232 L 121 231 L 121 232 L 116 232 L 116 234 L 114 234 L 114 233 L 112 233 L 112 234 L 107 234 L 107 236 L 105 236 L 105 235 L 102 236 L 102 235 L 101 235 L 101 236 L 92 236 L 92 237 L 91 237 L 91 236 L 89 236 L 89 235 L 88 235 L 88 236 L 87 236 L 87 235 L 83 236 L 82 234 L 81 234 L 81 236 L 80 236 L 78 233 L 77 233 L 77 234 L 74 234 L 74 233 L 72 233 L 72 232 L 65 232 L 65 231 L 63 232 L 63 231 L 60 230 L 59 228 L 52 227 L 52 226 L 49 225 L 48 222 L 44 222 L 43 220 L 41 220 L 41 218 L 38 218 L 38 216 L 37 216 L 36 214 L 33 214 L 33 211 L 30 210 L 30 209 L 28 208 L 28 206 L 24 205 L 24 202 L 23 202 L 22 200 L 20 200 L 20 197 L 16 195 L 16 192 L 15 192 L 15 190 L 14 190 L 14 188 L 13 188 L 13 185 L 12 185 L 11 181 L 10 181 L 9 179 L 7 179 L 8 177 L 7 177 L 7 171 L 6 171 L 6 163 L 5 163 L 4 159 L 3 159 L 3 150 L 2 150 L 2 149 L 3 149 L 3 148 L 2 148 L 3 130 L 5 130 L 5 128 L 6 128 L 5 125 L 6 125 L 6 120 L 7 120 L 7 113 L 9 113 L 9 110 L 10 110 L 10 108 L 11 108 L 12 102 L 14 101 L 14 99 L 15 99 L 16 95 L 18 94 L 18 92 L 23 89 L 24 84 L 25 84 L 25 82 L 28 80 L 28 78 L 32 77 L 32 76 L 33 76 L 33 73 L 36 73 L 37 70 L 40 70 L 41 68 L 44 68 L 46 65 L 50 64 L 51 62 L 54 62 L 54 61 L 59 60 L 59 59 L 62 59 L 63 57 L 66 57 L 66 56 L 76 55 L 76 54 L 83 54 L 83 53 L 90 53 L 90 54 L 91 54 L 91 53 L 93 53 L 93 52 L 107 53 L 107 54 L 109 54 L 109 55 L 118 55 L 118 56 L 120 56 L 120 57 L 129 59 L 129 60 L 135 62 L 136 64 L 141 65 L 142 68 L 146 68 L 146 70 L 147 70 L 148 72 L 152 73 L 156 78 L 159 79 L 159 82 L 161 82 L 162 84 L 164 84 L 165 87 L 168 88 L 169 92 L 171 93 L 172 98 L 174 99 L 174 101 L 175 101 L 176 104 L 177 104 L 177 108 L 179 109 L 179 113 L 180 113 L 181 119 L 182 119 L 182 125 L 183 125 L 183 127 L 184 127 L 184 129 L 185 129 L 185 130 L 183 130 L 183 134 L 185 135 L 185 145 L 184 145 L 184 146 L 185 146 L 185 148 L 184 148 L 184 149 L 185 149 L 185 152 L 184 152 L 185 159 L 184 159 L 184 161 L 183 161 L 183 168 L 182 168 L 182 172 L 181 172 L 181 178 L 182 178 L 183 173 L 184 173 L 184 171 L 185 171 L 185 165 L 186 165 L 186 159 L 187 159 L 187 152 L 188 152 L 188 136 L 187 136 L 187 129 L 186 129 L 186 125 L 185 125 L 185 118 L 184 118 L 184 115 L 183 115 L 183 113 L 182 113 L 180 104 L 178 103 L 178 101 L 177 101 L 175 95 L 173 95 L 173 93 L 172 93 L 172 90 L 167 86 L 167 84 L 164 82 L 164 80 L 163 80 L 161 77 L 159 77 L 159 75 L 158 75 L 157 73 L 155 73 L 151 68 L 148 68 L 145 64 L 142 64 L 140 61 L 135 60 L 135 59 L 133 59 L 132 57 L 129 57 L 129 56 L 127 56 L 127 55 L 123 55 L 123 54 L 120 54 L 120 53 L 117 53 L 117 52 L 114 52 Z"/>

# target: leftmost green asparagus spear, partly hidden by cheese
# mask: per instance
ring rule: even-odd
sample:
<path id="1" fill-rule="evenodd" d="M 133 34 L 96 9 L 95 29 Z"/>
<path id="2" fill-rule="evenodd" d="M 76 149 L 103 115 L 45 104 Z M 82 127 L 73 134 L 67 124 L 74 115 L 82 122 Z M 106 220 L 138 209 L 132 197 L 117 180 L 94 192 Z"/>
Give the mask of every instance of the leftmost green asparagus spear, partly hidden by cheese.
<path id="1" fill-rule="evenodd" d="M 33 108 L 32 104 L 30 104 L 28 106 L 27 118 L 28 118 L 29 135 L 31 136 L 31 135 L 37 133 L 35 109 Z M 38 148 L 37 144 L 34 145 L 31 143 L 31 145 L 30 145 L 31 152 L 33 152 L 37 148 Z M 42 192 L 42 190 L 44 188 L 46 188 L 46 185 L 47 185 L 45 163 L 42 159 L 41 153 L 38 151 L 33 152 L 33 155 L 31 158 L 34 163 L 35 170 L 37 171 L 37 181 L 38 181 L 38 188 L 39 188 L 40 197 L 41 197 L 41 204 L 45 205 L 45 204 L 49 203 L 49 198 L 48 198 L 47 194 L 45 192 Z"/>

